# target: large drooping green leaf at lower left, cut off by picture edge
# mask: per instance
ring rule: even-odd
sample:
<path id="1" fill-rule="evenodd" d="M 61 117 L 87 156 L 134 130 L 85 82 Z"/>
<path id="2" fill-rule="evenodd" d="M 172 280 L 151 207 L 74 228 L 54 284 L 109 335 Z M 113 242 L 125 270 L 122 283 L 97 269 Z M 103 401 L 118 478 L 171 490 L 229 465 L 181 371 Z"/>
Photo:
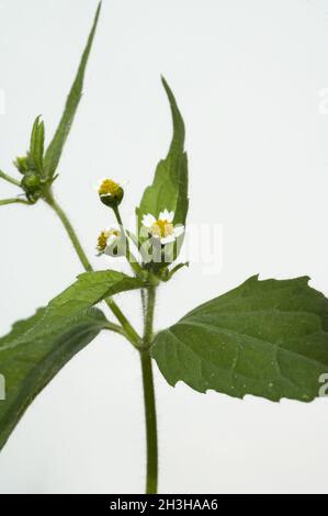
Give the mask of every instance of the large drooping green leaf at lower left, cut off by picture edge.
<path id="1" fill-rule="evenodd" d="M 15 323 L 0 339 L 0 373 L 5 400 L 0 401 L 0 449 L 27 406 L 55 374 L 105 326 L 105 317 L 90 309 L 65 325 L 43 325 L 46 309 Z"/>

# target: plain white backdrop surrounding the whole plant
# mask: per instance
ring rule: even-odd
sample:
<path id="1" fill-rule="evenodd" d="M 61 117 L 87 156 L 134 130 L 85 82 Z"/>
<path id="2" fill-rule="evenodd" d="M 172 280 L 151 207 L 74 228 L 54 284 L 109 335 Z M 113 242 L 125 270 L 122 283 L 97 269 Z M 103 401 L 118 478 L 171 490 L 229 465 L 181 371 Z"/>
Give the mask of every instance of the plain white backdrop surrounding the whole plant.
<path id="1" fill-rule="evenodd" d="M 190 221 L 222 224 L 223 268 L 202 263 L 161 288 L 157 326 L 241 283 L 309 274 L 328 294 L 328 7 L 314 0 L 105 0 L 84 96 L 56 193 L 95 267 L 111 220 L 92 186 L 129 181 L 123 214 L 163 157 L 171 121 L 160 74 L 186 124 Z M 34 117 L 49 137 L 84 45 L 94 0 L 2 0 L 0 165 L 25 152 Z M 325 93 L 325 92 L 324 92 Z M 324 111 L 324 112 L 323 112 Z M 0 183 L 0 198 L 15 194 Z M 1 206 L 0 330 L 81 271 L 42 203 Z M 137 294 L 120 295 L 133 319 Z M 156 370 L 162 493 L 328 492 L 327 400 L 244 401 Z M 1 402 L 0 402 L 1 403 Z M 2 493 L 142 492 L 144 414 L 137 355 L 101 335 L 56 377 L 0 456 Z"/>

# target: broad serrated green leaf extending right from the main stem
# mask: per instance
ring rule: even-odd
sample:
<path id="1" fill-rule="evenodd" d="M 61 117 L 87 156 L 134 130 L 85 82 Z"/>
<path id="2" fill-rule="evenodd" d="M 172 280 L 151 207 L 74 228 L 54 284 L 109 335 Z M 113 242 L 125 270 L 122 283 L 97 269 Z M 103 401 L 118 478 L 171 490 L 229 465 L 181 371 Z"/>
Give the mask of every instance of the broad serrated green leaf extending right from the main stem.
<path id="1" fill-rule="evenodd" d="M 328 300 L 307 283 L 250 278 L 160 332 L 151 355 L 171 385 L 310 401 L 328 372 Z"/>

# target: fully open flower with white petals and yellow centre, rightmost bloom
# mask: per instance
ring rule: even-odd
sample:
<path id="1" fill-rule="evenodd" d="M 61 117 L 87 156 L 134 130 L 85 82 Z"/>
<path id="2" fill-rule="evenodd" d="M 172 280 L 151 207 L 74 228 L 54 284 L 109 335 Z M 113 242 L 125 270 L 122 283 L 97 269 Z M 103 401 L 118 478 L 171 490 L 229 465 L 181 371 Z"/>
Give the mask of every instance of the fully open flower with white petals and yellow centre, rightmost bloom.
<path id="1" fill-rule="evenodd" d="M 160 212 L 158 218 L 148 213 L 143 216 L 143 226 L 147 228 L 152 238 L 160 239 L 161 244 L 170 244 L 176 238 L 182 235 L 184 226 L 182 224 L 173 224 L 174 212 L 169 212 L 167 209 Z"/>

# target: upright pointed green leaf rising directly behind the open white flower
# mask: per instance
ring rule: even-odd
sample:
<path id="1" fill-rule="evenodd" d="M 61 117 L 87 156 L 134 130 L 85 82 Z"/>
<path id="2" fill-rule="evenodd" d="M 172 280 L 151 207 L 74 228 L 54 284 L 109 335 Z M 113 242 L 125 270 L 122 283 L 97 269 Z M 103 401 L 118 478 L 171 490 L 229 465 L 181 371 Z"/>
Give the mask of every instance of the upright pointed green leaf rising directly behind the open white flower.
<path id="1" fill-rule="evenodd" d="M 166 159 L 159 161 L 154 182 L 146 188 L 137 209 L 139 229 L 144 214 L 151 213 L 158 216 L 162 210 L 168 209 L 174 211 L 174 224 L 184 225 L 188 213 L 188 160 L 184 153 L 184 123 L 165 78 L 162 78 L 162 85 L 170 102 L 173 137 Z"/>

